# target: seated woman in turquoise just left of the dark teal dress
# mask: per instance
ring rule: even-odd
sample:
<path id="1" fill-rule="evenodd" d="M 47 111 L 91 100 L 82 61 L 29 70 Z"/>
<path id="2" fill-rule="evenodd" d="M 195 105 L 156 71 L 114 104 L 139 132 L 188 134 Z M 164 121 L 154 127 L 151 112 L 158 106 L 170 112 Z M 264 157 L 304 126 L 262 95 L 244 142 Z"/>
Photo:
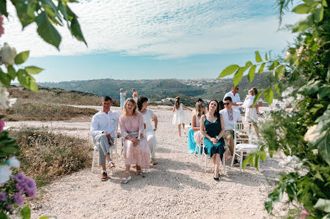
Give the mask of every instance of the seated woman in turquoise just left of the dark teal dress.
<path id="1" fill-rule="evenodd" d="M 196 144 L 201 145 L 203 134 L 201 133 L 201 116 L 205 114 L 205 103 L 203 100 L 196 102 L 195 110 L 193 110 L 191 118 L 191 129 L 188 132 L 189 153 L 195 152 Z M 199 152 L 198 152 L 199 153 Z"/>

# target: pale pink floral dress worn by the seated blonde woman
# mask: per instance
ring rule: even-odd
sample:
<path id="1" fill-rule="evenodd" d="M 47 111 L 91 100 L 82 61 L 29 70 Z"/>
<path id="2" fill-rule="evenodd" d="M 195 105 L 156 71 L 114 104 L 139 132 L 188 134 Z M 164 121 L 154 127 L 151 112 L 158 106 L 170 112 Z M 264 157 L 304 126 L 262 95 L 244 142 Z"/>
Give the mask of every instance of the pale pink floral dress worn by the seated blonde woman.
<path id="1" fill-rule="evenodd" d="M 126 117 L 122 115 L 119 118 L 120 130 L 122 132 L 122 139 L 124 139 L 124 157 L 125 164 L 137 164 L 141 168 L 149 168 L 150 150 L 144 132 L 144 119 L 142 114 L 137 112 L 136 116 Z M 138 137 L 140 133 L 144 134 L 139 145 L 133 146 L 132 140 L 126 139 L 127 135 L 131 137 Z"/>

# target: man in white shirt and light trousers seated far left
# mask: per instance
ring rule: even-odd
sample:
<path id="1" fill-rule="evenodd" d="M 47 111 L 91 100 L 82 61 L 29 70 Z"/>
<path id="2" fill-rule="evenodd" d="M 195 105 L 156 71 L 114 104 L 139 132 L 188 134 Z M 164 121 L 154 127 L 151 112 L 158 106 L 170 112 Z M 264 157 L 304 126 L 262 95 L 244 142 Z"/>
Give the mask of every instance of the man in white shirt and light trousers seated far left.
<path id="1" fill-rule="evenodd" d="M 108 179 L 106 173 L 106 160 L 108 161 L 109 169 L 115 164 L 110 158 L 110 147 L 113 146 L 115 136 L 115 128 L 117 127 L 120 114 L 113 112 L 110 107 L 113 105 L 113 100 L 104 96 L 102 98 L 103 109 L 97 112 L 91 118 L 90 135 L 93 137 L 94 145 L 99 150 L 99 165 L 102 166 L 101 180 Z"/>

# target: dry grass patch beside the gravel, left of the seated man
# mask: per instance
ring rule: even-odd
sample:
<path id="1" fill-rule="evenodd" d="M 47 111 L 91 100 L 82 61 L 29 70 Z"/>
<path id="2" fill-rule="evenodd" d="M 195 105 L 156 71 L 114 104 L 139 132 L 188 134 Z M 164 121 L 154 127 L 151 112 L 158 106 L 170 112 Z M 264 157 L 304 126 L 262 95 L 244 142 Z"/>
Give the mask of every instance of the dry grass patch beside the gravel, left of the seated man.
<path id="1" fill-rule="evenodd" d="M 11 131 L 17 138 L 20 169 L 41 186 L 54 178 L 88 166 L 91 152 L 88 140 L 23 127 Z"/>

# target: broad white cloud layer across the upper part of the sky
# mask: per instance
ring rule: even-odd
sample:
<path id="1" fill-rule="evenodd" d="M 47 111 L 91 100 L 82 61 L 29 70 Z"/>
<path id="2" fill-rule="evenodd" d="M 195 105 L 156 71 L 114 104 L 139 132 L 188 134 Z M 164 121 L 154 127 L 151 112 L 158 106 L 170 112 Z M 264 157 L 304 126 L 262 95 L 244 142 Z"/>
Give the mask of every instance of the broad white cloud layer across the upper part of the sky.
<path id="1" fill-rule="evenodd" d="M 292 35 L 277 32 L 278 21 L 276 13 L 270 13 L 271 7 L 264 0 L 85 0 L 71 4 L 71 8 L 80 17 L 88 48 L 60 27 L 63 41 L 58 52 L 37 36 L 35 25 L 21 32 L 15 16 L 5 19 L 1 41 L 18 51 L 31 50 L 34 57 L 120 52 L 167 59 L 283 48 Z M 13 13 L 13 6 L 9 8 Z"/>

